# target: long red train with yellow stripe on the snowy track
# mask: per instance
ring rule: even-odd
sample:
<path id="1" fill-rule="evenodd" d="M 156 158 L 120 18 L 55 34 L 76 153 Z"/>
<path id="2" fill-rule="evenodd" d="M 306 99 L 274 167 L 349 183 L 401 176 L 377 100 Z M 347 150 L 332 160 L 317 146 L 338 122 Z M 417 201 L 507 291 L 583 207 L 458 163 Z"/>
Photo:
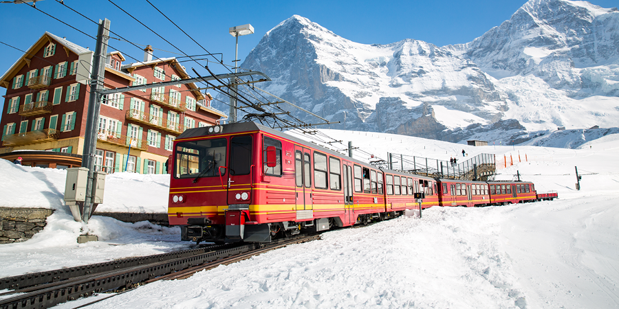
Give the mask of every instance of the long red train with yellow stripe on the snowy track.
<path id="1" fill-rule="evenodd" d="M 423 208 L 539 199 L 530 182 L 384 170 L 252 122 L 186 130 L 173 149 L 169 222 L 195 242 L 269 242 L 393 218 L 417 207 L 415 193 Z"/>

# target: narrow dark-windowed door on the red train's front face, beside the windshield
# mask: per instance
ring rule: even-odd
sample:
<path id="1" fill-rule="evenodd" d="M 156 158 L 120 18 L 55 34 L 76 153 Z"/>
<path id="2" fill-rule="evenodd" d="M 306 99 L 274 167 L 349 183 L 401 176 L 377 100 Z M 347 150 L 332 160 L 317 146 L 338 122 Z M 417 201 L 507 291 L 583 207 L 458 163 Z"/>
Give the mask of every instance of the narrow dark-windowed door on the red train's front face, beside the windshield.
<path id="1" fill-rule="evenodd" d="M 256 172 L 252 164 L 252 135 L 230 138 L 230 160 L 228 161 L 228 205 L 250 204 L 252 200 L 252 175 Z M 224 168 L 220 168 L 225 177 Z M 215 171 L 219 174 L 219 171 Z M 224 185 L 226 178 L 223 179 Z"/>

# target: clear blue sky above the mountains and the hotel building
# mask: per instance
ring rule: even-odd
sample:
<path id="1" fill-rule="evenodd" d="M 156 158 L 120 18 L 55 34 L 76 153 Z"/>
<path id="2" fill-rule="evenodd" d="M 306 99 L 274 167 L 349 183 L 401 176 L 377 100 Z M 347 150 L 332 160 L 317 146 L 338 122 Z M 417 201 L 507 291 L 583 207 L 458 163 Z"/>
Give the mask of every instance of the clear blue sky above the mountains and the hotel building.
<path id="1" fill-rule="evenodd" d="M 133 14 L 158 34 L 189 55 L 205 54 L 202 47 L 191 41 L 157 12 L 146 0 L 113 0 L 120 8 Z M 433 43 L 438 46 L 467 43 L 491 27 L 500 25 L 518 10 L 525 0 L 444 0 L 444 1 L 197 1 L 151 0 L 177 25 L 182 27 L 210 53 L 222 53 L 226 64 L 232 65 L 235 38 L 228 27 L 251 23 L 255 33 L 239 38 L 239 59 L 243 60 L 262 36 L 293 14 L 307 17 L 339 36 L 365 44 L 387 44 L 404 38 Z M 595 0 L 604 8 L 617 6 L 616 0 Z M 111 30 L 139 45 L 155 47 L 155 56 L 177 56 L 157 49 L 180 53 L 164 42 L 111 2 L 106 0 L 65 0 L 65 4 L 90 19 L 110 19 Z M 79 16 L 56 0 L 36 3 L 36 7 L 70 25 L 96 36 L 97 25 Z M 45 31 L 67 37 L 83 47 L 94 49 L 93 38 L 30 8 L 25 4 L 0 3 L 0 42 L 28 49 Z M 112 34 L 111 36 L 117 37 Z M 131 57 L 142 60 L 138 47 L 111 40 L 110 48 L 120 50 L 128 62 Z M 0 72 L 3 74 L 23 53 L 0 43 Z M 195 62 L 186 62 L 197 67 Z M 212 66 L 216 73 L 224 69 Z M 205 72 L 202 69 L 201 72 Z M 4 94 L 5 89 L 0 89 Z M 3 101 L 3 100 L 2 100 Z"/>

